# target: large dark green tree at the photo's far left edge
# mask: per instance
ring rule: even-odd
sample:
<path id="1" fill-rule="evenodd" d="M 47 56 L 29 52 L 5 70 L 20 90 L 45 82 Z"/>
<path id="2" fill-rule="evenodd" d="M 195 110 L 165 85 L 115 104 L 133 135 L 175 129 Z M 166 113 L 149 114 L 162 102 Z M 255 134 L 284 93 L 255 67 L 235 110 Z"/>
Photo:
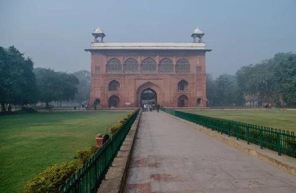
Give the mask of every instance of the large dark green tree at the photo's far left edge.
<path id="1" fill-rule="evenodd" d="M 33 74 L 33 61 L 25 58 L 14 46 L 0 47 L 0 102 L 1 110 L 5 104 L 26 105 L 36 102 L 36 79 Z"/>

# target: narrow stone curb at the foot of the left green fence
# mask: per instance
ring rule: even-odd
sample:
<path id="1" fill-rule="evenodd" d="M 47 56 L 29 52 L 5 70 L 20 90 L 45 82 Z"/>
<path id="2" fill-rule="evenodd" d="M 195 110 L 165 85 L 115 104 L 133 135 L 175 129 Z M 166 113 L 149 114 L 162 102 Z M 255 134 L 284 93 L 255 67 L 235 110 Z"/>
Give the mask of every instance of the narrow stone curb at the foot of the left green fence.
<path id="1" fill-rule="evenodd" d="M 142 111 L 139 112 L 135 122 L 133 123 L 129 133 L 127 134 L 120 150 L 117 153 L 117 156 L 112 162 L 112 167 L 109 168 L 108 173 L 106 175 L 106 180 L 102 182 L 98 193 L 121 193 L 125 177 L 126 171 L 128 168 L 131 151 L 133 147 L 133 143 L 135 140 L 135 136 L 137 133 L 137 128 L 139 124 L 139 120 L 141 117 Z"/>

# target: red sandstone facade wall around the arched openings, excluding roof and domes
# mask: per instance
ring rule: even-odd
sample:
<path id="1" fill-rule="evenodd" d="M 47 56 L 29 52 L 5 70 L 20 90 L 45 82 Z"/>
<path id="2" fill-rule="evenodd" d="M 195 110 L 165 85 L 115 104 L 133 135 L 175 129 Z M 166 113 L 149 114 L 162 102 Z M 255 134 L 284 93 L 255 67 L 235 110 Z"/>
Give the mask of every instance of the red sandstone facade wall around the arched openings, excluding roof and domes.
<path id="1" fill-rule="evenodd" d="M 141 61 L 151 57 L 156 61 L 158 69 L 159 61 L 165 57 L 171 59 L 174 64 L 184 57 L 190 63 L 190 73 L 159 73 L 153 72 L 110 72 L 106 73 L 106 64 L 111 58 L 123 63 L 126 59 L 133 57 L 138 60 L 139 70 Z M 100 73 L 95 71 L 95 67 L 100 67 Z M 196 67 L 201 66 L 201 72 L 196 72 Z M 174 65 L 175 70 L 175 65 Z M 206 77 L 205 77 L 205 53 L 199 51 L 96 51 L 91 53 L 91 103 L 95 99 L 100 99 L 102 107 L 108 107 L 108 99 L 116 95 L 120 99 L 118 107 L 126 107 L 125 103 L 130 102 L 130 107 L 138 107 L 140 104 L 141 92 L 150 87 L 156 91 L 157 102 L 164 107 L 178 107 L 178 97 L 186 95 L 188 97 L 188 107 L 196 107 L 197 99 L 201 98 L 201 107 L 206 106 Z M 111 80 L 117 80 L 120 87 L 117 91 L 109 91 L 108 84 Z M 182 79 L 188 82 L 185 91 L 178 91 L 178 82 Z"/>

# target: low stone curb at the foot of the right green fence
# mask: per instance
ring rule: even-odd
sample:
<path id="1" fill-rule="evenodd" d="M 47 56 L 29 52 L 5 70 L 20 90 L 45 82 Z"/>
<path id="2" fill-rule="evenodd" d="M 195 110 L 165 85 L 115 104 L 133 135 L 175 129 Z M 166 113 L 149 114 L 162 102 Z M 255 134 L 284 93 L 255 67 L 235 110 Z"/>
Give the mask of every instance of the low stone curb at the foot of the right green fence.
<path id="1" fill-rule="evenodd" d="M 165 112 L 161 112 L 164 114 L 167 114 Z M 285 170 L 286 172 L 289 172 L 296 176 L 296 159 L 293 157 L 290 157 L 288 155 L 282 154 L 278 155 L 277 152 L 274 152 L 269 149 L 260 149 L 260 146 L 256 144 L 247 144 L 247 141 L 244 140 L 236 140 L 236 137 L 228 137 L 228 135 L 218 133 L 217 131 L 212 131 L 212 129 L 207 129 L 204 126 L 189 122 L 187 120 L 184 120 L 182 118 L 172 116 L 170 114 L 167 114 L 168 116 L 171 116 L 181 122 L 184 122 L 186 125 L 208 135 L 215 139 L 218 139 L 219 141 L 234 147 L 237 150 L 240 150 L 244 153 L 250 154 L 252 156 L 255 156 L 270 165 L 273 165 L 279 169 Z"/>

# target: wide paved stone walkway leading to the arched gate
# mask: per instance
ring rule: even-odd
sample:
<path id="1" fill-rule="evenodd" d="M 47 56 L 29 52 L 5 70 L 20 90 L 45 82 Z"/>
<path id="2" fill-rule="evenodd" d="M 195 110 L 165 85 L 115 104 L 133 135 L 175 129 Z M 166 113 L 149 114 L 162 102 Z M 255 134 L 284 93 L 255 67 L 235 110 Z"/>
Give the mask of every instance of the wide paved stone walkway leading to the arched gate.
<path id="1" fill-rule="evenodd" d="M 296 193 L 296 176 L 164 113 L 143 112 L 124 193 Z"/>

